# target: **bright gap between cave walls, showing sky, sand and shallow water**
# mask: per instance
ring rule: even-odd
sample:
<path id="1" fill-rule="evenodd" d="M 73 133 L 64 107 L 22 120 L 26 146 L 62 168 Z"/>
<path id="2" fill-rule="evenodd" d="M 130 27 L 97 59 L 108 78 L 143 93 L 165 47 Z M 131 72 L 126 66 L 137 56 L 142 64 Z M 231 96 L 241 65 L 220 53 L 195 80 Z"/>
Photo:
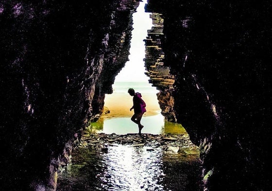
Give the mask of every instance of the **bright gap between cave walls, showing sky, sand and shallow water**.
<path id="1" fill-rule="evenodd" d="M 111 134 L 138 133 L 137 124 L 130 120 L 134 111 L 129 109 L 133 105 L 132 97 L 128 94 L 129 88 L 142 95 L 146 102 L 146 110 L 141 123 L 144 125 L 142 133 L 161 134 L 164 128 L 164 117 L 161 115 L 155 87 L 149 83 L 149 77 L 145 74 L 144 67 L 145 43 L 147 30 L 152 27 L 150 13 L 145 13 L 145 2 L 140 2 L 136 13 L 133 14 L 133 31 L 130 47 L 129 61 L 116 76 L 113 84 L 113 93 L 106 94 L 105 106 L 110 113 L 103 116 L 96 124 L 100 125 L 100 131 Z"/>

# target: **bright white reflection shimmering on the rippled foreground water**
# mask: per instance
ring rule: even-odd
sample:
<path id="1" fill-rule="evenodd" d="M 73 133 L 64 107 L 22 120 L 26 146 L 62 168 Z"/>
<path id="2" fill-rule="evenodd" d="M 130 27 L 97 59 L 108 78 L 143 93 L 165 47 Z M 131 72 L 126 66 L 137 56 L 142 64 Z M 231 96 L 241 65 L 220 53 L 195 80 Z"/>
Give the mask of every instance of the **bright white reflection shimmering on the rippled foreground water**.
<path id="1" fill-rule="evenodd" d="M 108 191 L 163 190 L 163 186 L 159 184 L 164 175 L 161 156 L 161 149 L 148 152 L 144 147 L 111 147 L 109 153 L 102 159 L 106 164 L 100 176 L 100 179 L 106 180 L 107 183 L 104 189 Z"/>

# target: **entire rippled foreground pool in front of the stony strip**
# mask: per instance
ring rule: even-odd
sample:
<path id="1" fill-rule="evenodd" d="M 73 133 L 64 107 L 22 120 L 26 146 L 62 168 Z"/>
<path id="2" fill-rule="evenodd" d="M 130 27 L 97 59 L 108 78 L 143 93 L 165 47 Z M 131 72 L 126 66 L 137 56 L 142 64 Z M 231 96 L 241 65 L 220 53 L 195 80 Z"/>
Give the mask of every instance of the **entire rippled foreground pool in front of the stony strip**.
<path id="1" fill-rule="evenodd" d="M 169 153 L 159 146 L 78 148 L 58 178 L 57 191 L 200 191 L 197 155 Z"/>

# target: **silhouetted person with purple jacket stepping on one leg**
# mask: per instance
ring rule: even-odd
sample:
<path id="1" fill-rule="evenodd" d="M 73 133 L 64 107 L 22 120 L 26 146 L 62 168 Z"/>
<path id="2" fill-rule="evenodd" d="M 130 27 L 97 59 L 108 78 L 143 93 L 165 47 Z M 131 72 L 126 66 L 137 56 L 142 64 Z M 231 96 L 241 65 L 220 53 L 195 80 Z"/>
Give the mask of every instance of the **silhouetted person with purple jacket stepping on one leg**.
<path id="1" fill-rule="evenodd" d="M 131 117 L 131 121 L 135 122 L 138 125 L 140 135 L 141 130 L 144 127 L 141 124 L 141 119 L 144 112 L 146 112 L 146 104 L 141 98 L 142 95 L 138 92 L 135 93 L 135 90 L 133 88 L 129 88 L 128 93 L 129 95 L 133 96 L 133 106 L 130 108 L 130 111 L 134 109 L 134 115 Z"/>

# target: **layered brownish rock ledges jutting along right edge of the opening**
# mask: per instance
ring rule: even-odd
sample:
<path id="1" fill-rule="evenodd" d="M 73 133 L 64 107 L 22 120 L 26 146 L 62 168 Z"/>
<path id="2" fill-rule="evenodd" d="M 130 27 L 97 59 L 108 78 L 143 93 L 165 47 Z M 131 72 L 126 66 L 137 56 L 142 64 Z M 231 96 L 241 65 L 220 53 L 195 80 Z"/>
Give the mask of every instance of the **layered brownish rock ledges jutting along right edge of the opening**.
<path id="1" fill-rule="evenodd" d="M 162 115 L 167 121 L 176 122 L 172 96 L 174 76 L 170 74 L 169 67 L 164 64 L 164 52 L 161 47 L 164 38 L 163 18 L 157 13 L 152 13 L 150 17 L 152 18 L 153 27 L 148 30 L 147 38 L 144 39 L 146 74 L 150 77 L 149 82 L 159 90 L 157 98 Z"/>

